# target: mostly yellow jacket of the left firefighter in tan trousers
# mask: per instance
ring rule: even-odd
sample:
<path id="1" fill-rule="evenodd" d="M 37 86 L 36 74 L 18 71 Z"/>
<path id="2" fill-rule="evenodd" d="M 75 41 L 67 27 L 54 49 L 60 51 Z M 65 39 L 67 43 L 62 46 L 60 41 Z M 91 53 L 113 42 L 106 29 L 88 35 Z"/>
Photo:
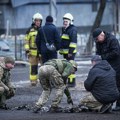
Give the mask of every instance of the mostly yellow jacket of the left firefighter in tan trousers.
<path id="1" fill-rule="evenodd" d="M 35 43 L 35 39 L 38 33 L 38 28 L 31 26 L 26 32 L 25 36 L 25 50 L 29 51 L 30 55 L 37 56 L 37 47 Z"/>

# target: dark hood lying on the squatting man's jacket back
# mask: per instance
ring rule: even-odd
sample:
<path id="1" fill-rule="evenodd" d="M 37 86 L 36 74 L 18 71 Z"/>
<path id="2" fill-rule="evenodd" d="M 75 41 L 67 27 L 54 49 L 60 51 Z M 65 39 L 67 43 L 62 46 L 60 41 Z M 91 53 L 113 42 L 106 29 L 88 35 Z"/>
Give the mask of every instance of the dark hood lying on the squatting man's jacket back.
<path id="1" fill-rule="evenodd" d="M 103 69 L 106 71 L 111 69 L 110 64 L 106 60 L 102 60 L 102 61 L 98 62 L 94 67 L 100 68 L 100 69 Z"/>

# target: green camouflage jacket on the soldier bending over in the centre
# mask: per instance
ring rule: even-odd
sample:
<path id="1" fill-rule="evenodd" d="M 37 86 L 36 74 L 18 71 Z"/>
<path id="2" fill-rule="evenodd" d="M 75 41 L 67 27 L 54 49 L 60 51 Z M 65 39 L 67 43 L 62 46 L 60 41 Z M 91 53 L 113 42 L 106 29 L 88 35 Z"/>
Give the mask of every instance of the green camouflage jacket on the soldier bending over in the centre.
<path id="1" fill-rule="evenodd" d="M 67 78 L 69 75 L 71 75 L 74 69 L 72 64 L 65 59 L 52 59 L 45 62 L 44 65 L 54 66 L 64 78 Z"/>

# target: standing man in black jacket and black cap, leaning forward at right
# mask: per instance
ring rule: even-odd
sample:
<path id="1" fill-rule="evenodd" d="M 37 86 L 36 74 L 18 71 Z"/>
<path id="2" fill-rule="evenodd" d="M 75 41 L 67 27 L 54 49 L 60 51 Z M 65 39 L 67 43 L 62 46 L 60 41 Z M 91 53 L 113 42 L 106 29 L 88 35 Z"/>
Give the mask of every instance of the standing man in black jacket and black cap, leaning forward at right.
<path id="1" fill-rule="evenodd" d="M 93 38 L 96 42 L 96 54 L 101 55 L 103 60 L 116 71 L 116 83 L 120 92 L 120 45 L 114 35 L 96 28 L 93 32 Z M 116 102 L 114 110 L 120 111 L 120 98 Z"/>

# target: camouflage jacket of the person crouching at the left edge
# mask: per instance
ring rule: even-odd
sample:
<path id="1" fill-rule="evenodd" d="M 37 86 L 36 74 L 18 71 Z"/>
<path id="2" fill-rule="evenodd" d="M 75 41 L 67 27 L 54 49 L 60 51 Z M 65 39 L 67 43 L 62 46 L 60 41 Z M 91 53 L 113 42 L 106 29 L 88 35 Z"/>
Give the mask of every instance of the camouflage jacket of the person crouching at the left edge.
<path id="1" fill-rule="evenodd" d="M 4 87 L 6 90 L 13 88 L 10 81 L 10 70 L 5 67 L 3 58 L 0 58 L 0 86 Z"/>

